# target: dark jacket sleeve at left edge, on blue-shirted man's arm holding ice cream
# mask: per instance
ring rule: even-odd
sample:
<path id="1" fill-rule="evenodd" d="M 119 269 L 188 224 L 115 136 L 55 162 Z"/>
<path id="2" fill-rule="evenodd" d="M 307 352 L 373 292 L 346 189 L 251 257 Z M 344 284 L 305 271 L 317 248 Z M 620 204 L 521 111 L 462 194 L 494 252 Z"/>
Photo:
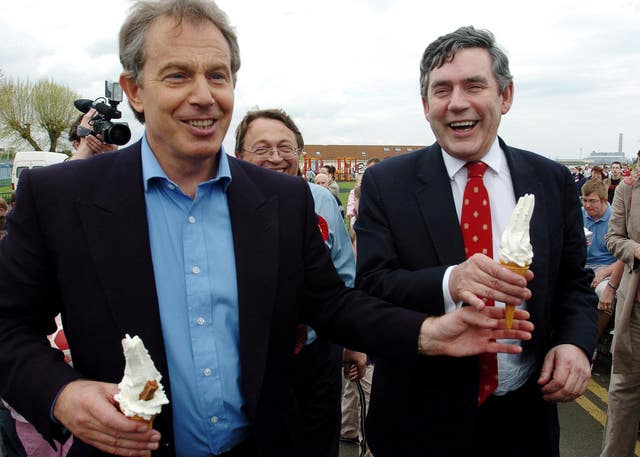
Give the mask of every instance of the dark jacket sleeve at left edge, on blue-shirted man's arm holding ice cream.
<path id="1" fill-rule="evenodd" d="M 46 337 L 56 329 L 60 297 L 55 265 L 36 217 L 30 173 L 20 177 L 7 237 L 0 241 L 0 396 L 43 436 L 61 438 L 50 421 L 60 389 L 79 377 Z"/>

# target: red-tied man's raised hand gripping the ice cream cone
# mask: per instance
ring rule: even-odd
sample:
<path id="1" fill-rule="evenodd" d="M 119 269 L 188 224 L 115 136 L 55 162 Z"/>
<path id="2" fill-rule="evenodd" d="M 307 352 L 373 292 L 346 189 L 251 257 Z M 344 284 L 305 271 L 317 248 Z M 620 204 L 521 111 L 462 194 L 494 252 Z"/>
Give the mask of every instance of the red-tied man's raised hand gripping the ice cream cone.
<path id="1" fill-rule="evenodd" d="M 531 271 L 522 277 L 486 255 L 474 254 L 451 270 L 449 292 L 453 301 L 462 301 L 477 310 L 484 308 L 483 298 L 518 306 L 531 298 L 526 286 L 532 279 Z"/>

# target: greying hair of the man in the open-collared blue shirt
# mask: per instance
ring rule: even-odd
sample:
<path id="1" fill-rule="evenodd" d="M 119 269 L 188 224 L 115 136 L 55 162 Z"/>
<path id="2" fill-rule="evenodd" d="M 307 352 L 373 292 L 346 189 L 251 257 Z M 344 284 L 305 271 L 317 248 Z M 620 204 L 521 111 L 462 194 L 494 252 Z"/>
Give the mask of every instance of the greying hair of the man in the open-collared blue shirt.
<path id="1" fill-rule="evenodd" d="M 231 51 L 231 76 L 236 82 L 240 69 L 240 47 L 234 28 L 224 11 L 212 0 L 139 0 L 133 4 L 129 16 L 120 29 L 120 63 L 126 77 L 142 85 L 142 69 L 146 62 L 145 44 L 151 24 L 163 16 L 173 17 L 176 27 L 183 20 L 193 23 L 209 21 L 215 25 Z M 144 113 L 133 110 L 136 119 L 144 123 Z"/>

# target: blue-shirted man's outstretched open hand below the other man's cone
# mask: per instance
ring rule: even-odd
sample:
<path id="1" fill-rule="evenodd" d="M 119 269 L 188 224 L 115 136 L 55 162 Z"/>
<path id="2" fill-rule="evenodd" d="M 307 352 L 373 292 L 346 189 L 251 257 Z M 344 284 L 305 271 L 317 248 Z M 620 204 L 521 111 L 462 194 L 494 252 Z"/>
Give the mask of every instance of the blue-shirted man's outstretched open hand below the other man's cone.
<path id="1" fill-rule="evenodd" d="M 464 357 L 484 352 L 518 354 L 520 346 L 497 339 L 531 339 L 529 313 L 517 309 L 511 330 L 505 327 L 504 308 L 487 306 L 478 311 L 469 306 L 440 317 L 428 317 L 420 327 L 420 345 L 425 355 Z"/>

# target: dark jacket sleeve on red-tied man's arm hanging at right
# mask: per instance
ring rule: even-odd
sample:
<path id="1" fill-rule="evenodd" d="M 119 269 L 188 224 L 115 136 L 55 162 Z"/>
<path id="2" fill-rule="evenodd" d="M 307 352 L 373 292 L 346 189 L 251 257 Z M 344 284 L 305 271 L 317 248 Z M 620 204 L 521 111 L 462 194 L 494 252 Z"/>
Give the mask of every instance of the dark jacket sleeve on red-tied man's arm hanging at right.
<path id="1" fill-rule="evenodd" d="M 584 268 L 586 244 L 580 203 L 572 192 L 574 183 L 568 170 L 563 173 L 563 189 L 557 195 L 563 217 L 562 245 L 559 252 L 550 250 L 550 262 L 558 256 L 558 279 L 553 289 L 551 302 L 553 333 L 552 344 L 571 343 L 582 348 L 590 357 L 597 328 L 597 297 L 590 287 L 592 273 Z M 554 247 L 552 240 L 552 247 Z M 535 253 L 534 253 L 535 255 Z M 536 259 L 534 258 L 534 263 Z M 534 279 L 535 281 L 535 279 Z"/>

